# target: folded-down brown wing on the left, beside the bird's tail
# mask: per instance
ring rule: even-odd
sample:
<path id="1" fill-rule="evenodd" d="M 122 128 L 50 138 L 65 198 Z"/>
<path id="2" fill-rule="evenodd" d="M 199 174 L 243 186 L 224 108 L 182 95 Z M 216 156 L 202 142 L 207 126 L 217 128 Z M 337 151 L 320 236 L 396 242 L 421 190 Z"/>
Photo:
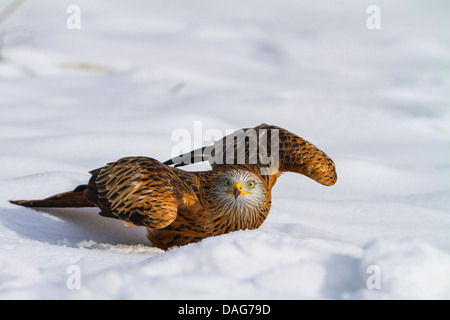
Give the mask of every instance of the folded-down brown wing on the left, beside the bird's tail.
<path id="1" fill-rule="evenodd" d="M 186 187 L 186 177 L 181 182 L 180 171 L 151 158 L 122 158 L 91 171 L 85 197 L 100 207 L 102 216 L 164 228 L 175 220 L 184 197 L 194 196 Z"/>

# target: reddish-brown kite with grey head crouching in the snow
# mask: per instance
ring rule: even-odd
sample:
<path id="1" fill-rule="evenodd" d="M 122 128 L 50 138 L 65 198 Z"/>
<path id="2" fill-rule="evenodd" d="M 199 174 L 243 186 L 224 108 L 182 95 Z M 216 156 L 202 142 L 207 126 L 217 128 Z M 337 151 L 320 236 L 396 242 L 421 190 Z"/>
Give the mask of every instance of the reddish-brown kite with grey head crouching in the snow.
<path id="1" fill-rule="evenodd" d="M 337 180 L 330 157 L 280 127 L 261 124 L 241 129 L 232 135 L 231 143 L 224 144 L 231 141 L 229 138 L 165 162 L 144 156 L 124 157 L 90 171 L 89 182 L 73 191 L 41 200 L 10 202 L 41 208 L 98 207 L 103 217 L 146 227 L 151 245 L 168 250 L 259 228 L 271 208 L 272 188 L 284 172 L 303 174 L 325 186 Z M 267 138 L 271 141 L 263 145 Z M 241 152 L 242 143 L 249 150 Z M 277 152 L 273 152 L 275 149 Z M 237 156 L 233 161 L 222 161 L 229 160 L 231 154 Z M 181 163 L 180 159 L 190 161 Z M 211 169 L 180 168 L 200 161 L 209 161 Z"/>

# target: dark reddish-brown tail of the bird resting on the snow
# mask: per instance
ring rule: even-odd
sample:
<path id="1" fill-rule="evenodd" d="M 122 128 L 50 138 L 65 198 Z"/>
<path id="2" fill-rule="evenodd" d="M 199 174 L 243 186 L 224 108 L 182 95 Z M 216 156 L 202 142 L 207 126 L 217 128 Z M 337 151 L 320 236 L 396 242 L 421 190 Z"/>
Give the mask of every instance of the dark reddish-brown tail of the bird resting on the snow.
<path id="1" fill-rule="evenodd" d="M 84 208 L 96 205 L 86 199 L 84 191 L 87 185 L 81 185 L 73 191 L 58 193 L 41 200 L 10 200 L 9 202 L 23 207 L 32 208 Z"/>

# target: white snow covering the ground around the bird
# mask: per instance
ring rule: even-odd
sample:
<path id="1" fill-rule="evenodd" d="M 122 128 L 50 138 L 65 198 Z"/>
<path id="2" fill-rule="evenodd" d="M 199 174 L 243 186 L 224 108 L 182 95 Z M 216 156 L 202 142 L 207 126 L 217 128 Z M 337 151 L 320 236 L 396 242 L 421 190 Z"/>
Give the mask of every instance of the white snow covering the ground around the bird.
<path id="1" fill-rule="evenodd" d="M 69 1 L 0 24 L 1 299 L 450 298 L 447 2 L 377 1 L 380 30 L 356 0 L 76 2 L 80 30 Z M 164 161 L 199 122 L 284 127 L 338 182 L 284 174 L 261 228 L 167 252 L 96 209 L 8 202 Z"/>

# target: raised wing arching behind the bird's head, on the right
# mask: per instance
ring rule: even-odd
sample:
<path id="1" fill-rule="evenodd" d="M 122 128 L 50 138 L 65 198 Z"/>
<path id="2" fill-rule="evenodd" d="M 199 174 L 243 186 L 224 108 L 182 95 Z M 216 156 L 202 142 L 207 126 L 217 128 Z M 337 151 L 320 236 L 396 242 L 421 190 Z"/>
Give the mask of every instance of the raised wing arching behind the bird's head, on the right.
<path id="1" fill-rule="evenodd" d="M 261 174 L 296 172 L 331 186 L 337 175 L 333 160 L 313 144 L 286 129 L 261 124 L 241 129 L 212 146 L 193 150 L 164 164 L 176 167 L 209 161 L 213 168 L 229 164 L 257 165 Z"/>

